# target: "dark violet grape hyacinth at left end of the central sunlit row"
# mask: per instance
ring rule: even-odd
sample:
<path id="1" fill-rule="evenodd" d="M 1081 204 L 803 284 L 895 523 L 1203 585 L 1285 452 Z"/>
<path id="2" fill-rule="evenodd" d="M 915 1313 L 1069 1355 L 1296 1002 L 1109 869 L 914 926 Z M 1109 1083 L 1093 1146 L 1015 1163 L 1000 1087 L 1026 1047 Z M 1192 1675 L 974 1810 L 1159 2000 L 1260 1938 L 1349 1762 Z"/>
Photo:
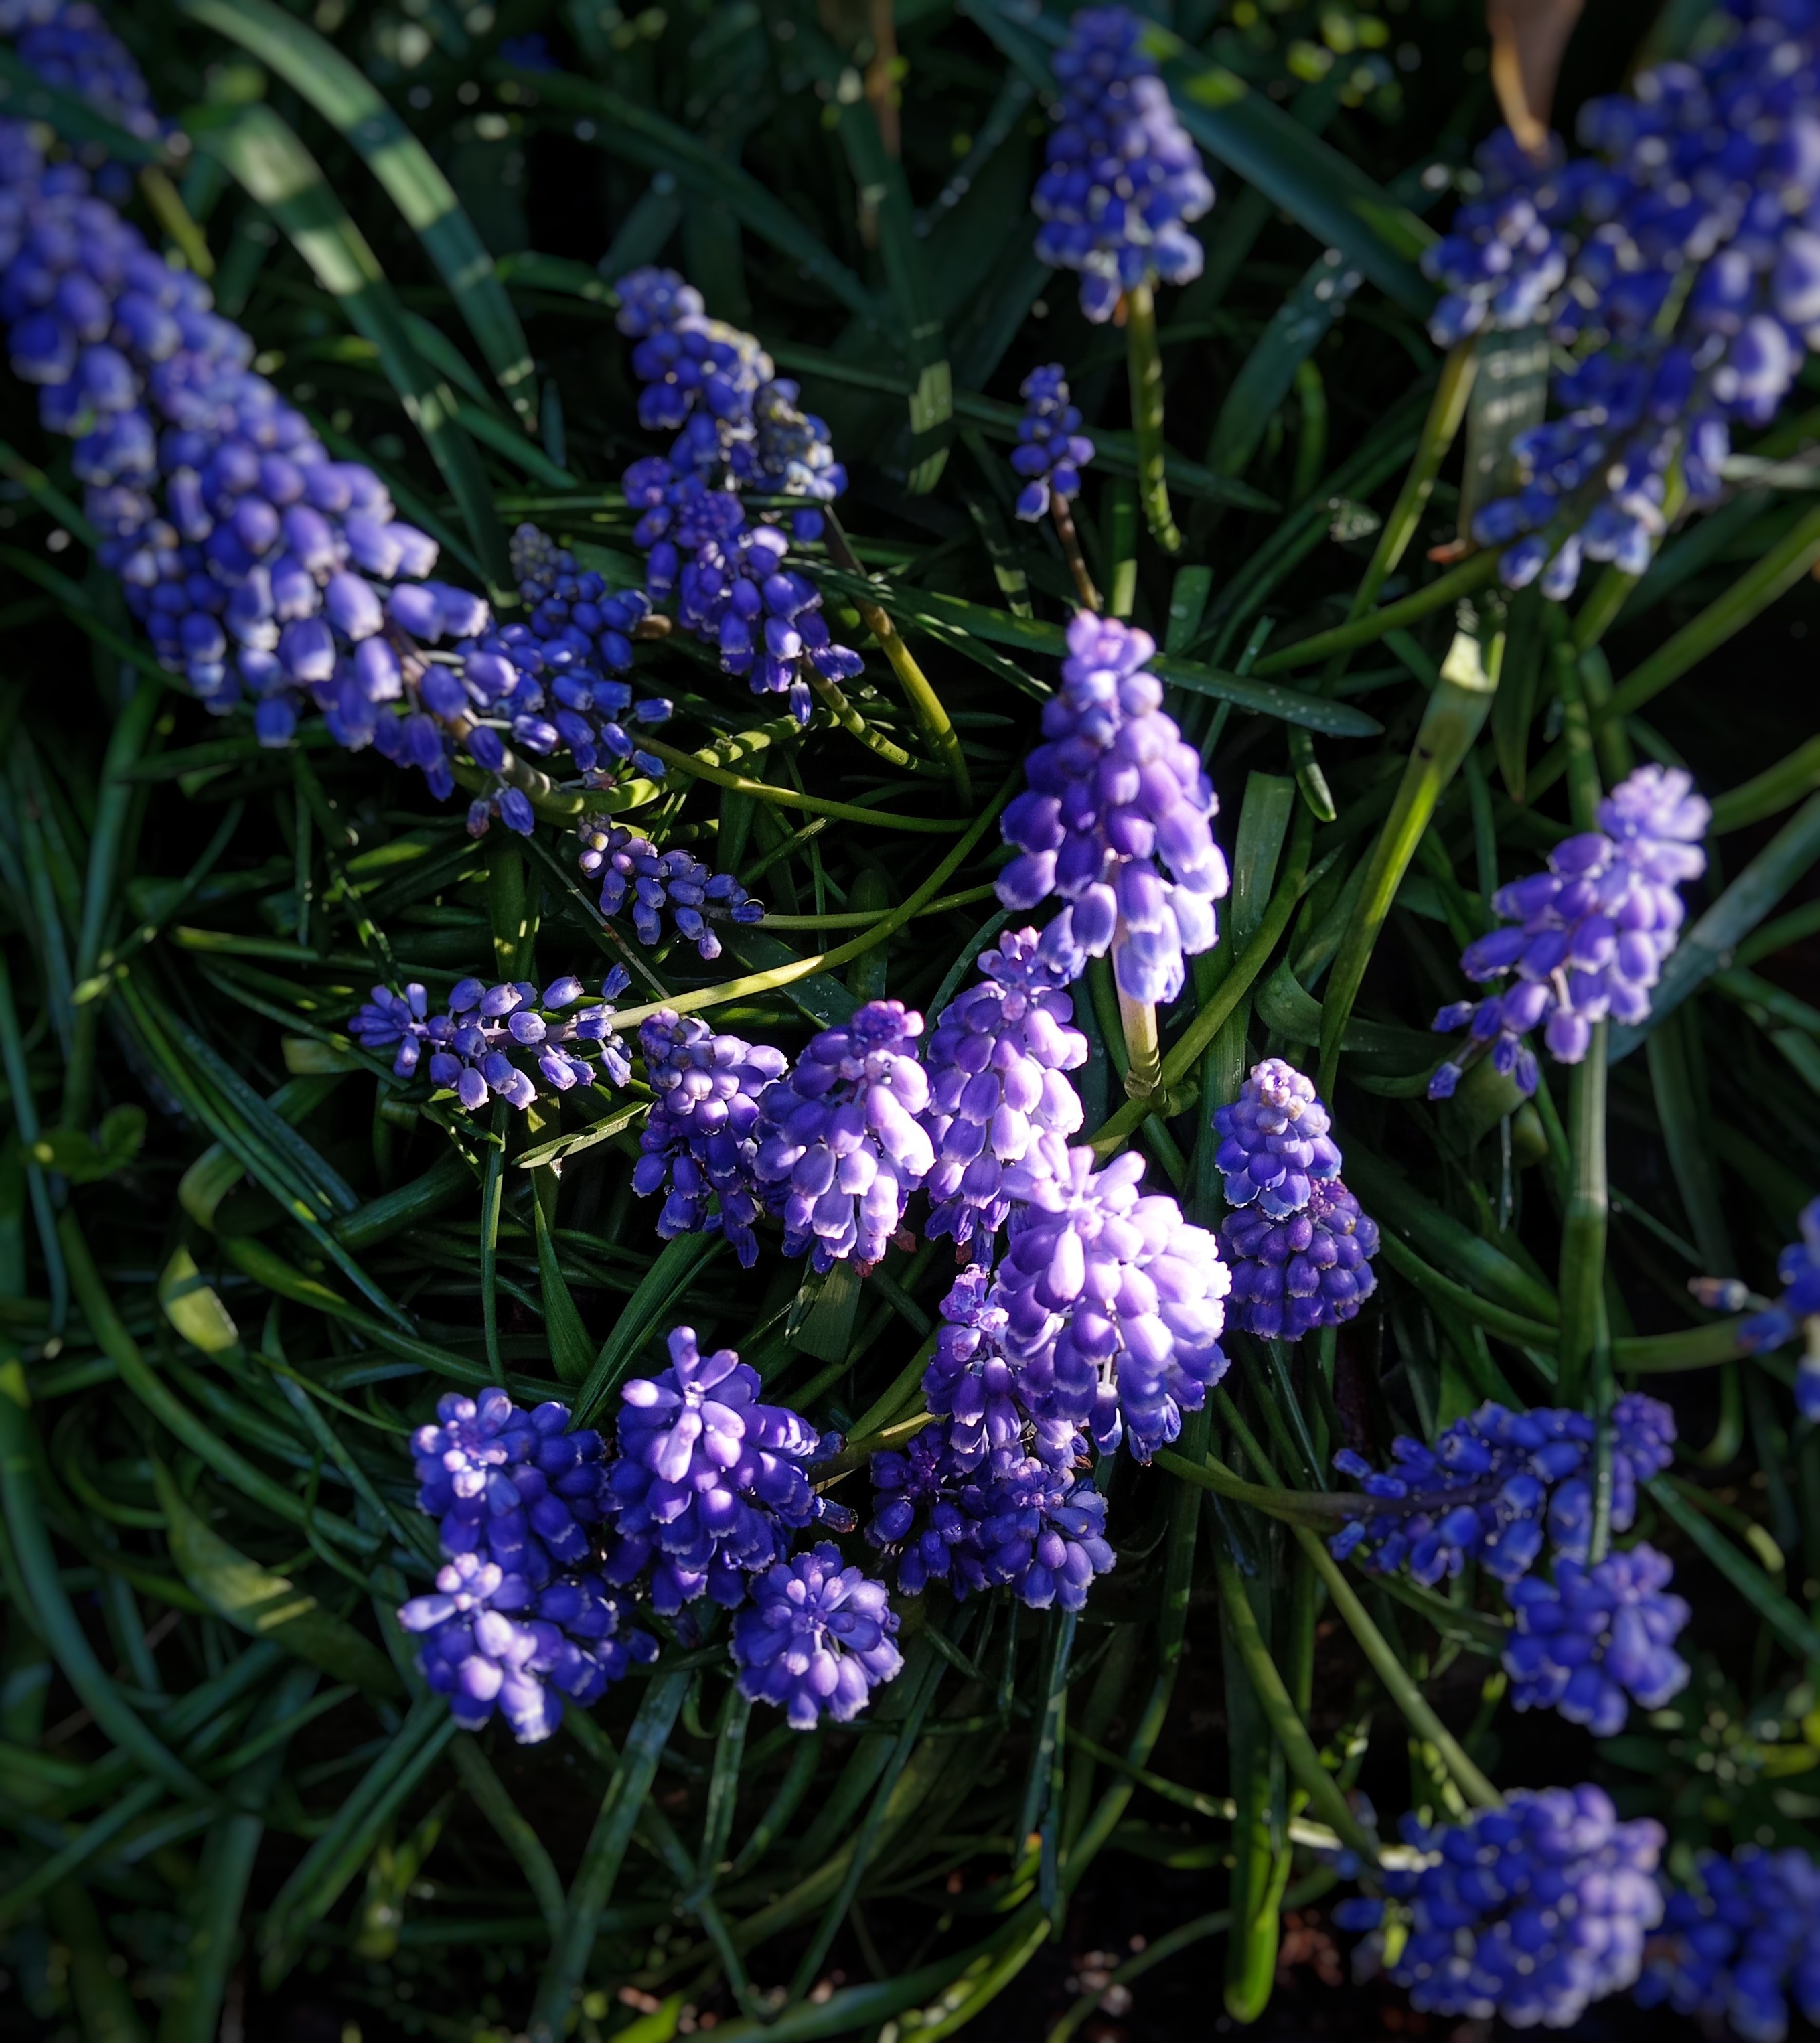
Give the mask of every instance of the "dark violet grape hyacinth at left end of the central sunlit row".
<path id="1" fill-rule="evenodd" d="M 717 1036 L 699 1015 L 668 1007 L 639 1026 L 652 1111 L 639 1130 L 631 1187 L 664 1191 L 658 1234 L 725 1234 L 741 1269 L 758 1261 L 752 1232 L 764 1211 L 758 1181 L 758 1099 L 788 1068 L 782 1050 Z M 713 1197 L 715 1209 L 709 1211 Z"/>

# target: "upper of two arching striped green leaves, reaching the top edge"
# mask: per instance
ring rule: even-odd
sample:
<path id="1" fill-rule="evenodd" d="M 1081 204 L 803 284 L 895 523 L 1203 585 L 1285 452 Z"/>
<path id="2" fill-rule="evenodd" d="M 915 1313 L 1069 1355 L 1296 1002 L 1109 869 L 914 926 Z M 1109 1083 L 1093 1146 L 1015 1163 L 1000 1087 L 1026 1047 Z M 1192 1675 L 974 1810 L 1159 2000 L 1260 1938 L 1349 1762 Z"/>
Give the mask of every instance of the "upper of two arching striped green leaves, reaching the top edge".
<path id="1" fill-rule="evenodd" d="M 180 6 L 270 65 L 360 151 L 437 266 L 519 423 L 535 429 L 537 382 L 525 329 L 494 276 L 486 243 L 423 143 L 333 43 L 272 0 L 180 0 Z"/>

